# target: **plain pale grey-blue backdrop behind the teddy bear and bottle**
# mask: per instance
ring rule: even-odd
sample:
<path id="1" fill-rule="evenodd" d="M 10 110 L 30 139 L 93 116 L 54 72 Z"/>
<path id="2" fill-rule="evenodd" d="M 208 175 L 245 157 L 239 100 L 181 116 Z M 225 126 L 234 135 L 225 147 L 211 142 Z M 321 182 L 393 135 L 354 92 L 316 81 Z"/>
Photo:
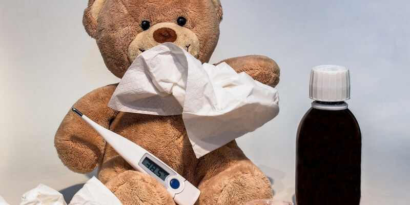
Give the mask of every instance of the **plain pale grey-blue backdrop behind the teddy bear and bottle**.
<path id="1" fill-rule="evenodd" d="M 39 183 L 59 191 L 89 178 L 65 168 L 53 147 L 75 101 L 119 81 L 81 25 L 86 5 L 0 0 L 0 195 L 10 204 Z M 347 103 L 363 135 L 361 204 L 407 204 L 410 3 L 237 0 L 222 6 L 210 63 L 261 54 L 281 68 L 279 115 L 238 139 L 272 179 L 276 197 L 294 195 L 295 135 L 311 106 L 310 69 L 335 64 L 350 69 Z"/>

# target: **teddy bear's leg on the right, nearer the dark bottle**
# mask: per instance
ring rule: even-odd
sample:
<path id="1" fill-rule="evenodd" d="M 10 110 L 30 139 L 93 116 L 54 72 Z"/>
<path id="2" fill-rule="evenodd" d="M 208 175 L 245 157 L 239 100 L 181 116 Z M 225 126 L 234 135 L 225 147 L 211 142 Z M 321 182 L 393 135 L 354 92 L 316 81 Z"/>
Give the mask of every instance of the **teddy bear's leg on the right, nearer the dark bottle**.
<path id="1" fill-rule="evenodd" d="M 200 182 L 197 205 L 241 205 L 256 199 L 272 198 L 269 179 L 249 159 Z"/>

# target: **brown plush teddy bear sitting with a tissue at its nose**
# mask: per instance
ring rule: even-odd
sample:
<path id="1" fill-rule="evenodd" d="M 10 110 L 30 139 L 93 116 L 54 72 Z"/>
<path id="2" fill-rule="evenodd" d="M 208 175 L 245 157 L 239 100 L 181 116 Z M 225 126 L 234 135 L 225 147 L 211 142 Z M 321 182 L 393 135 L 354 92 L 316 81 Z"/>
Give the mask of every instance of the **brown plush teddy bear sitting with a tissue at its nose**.
<path id="1" fill-rule="evenodd" d="M 121 78 L 137 55 L 165 42 L 207 63 L 219 38 L 219 0 L 89 0 L 83 23 L 96 39 L 108 69 Z M 279 68 L 264 56 L 223 60 L 263 84 L 276 86 Z M 117 84 L 98 88 L 73 107 L 99 125 L 153 153 L 197 187 L 196 204 L 245 204 L 271 198 L 268 178 L 243 154 L 235 140 L 197 159 L 181 115 L 118 112 L 107 107 Z M 71 111 L 55 135 L 64 165 L 98 178 L 123 204 L 175 204 L 155 178 L 135 171 L 91 127 Z"/>

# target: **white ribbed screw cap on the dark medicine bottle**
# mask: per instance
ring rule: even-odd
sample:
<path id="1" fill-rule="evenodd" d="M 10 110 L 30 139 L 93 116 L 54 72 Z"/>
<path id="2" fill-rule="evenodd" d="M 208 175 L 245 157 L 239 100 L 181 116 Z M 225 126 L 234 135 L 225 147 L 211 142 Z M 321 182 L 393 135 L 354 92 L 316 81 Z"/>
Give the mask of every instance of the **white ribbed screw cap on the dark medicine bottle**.
<path id="1" fill-rule="evenodd" d="M 309 95 L 314 100 L 327 102 L 350 99 L 349 70 L 333 65 L 312 68 Z"/>

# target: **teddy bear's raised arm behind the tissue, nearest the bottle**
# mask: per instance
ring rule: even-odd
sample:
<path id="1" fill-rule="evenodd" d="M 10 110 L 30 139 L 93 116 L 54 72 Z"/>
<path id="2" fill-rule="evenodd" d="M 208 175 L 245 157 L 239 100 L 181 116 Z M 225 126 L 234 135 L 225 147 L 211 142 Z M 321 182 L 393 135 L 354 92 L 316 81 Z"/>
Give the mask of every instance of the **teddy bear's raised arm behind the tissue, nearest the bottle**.
<path id="1" fill-rule="evenodd" d="M 280 69 L 276 62 L 261 55 L 247 55 L 220 61 L 227 63 L 237 73 L 245 72 L 260 83 L 275 87 L 279 83 Z"/>

